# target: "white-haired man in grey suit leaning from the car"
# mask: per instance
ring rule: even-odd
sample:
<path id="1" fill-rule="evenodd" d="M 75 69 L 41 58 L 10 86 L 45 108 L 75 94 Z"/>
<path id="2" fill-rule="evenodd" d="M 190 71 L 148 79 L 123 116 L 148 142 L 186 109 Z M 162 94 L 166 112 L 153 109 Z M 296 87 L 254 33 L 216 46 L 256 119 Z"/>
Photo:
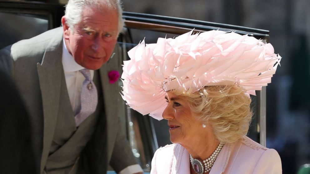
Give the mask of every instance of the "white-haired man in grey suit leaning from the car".
<path id="1" fill-rule="evenodd" d="M 119 128 L 118 84 L 108 78 L 121 69 L 110 59 L 121 15 L 119 0 L 69 0 L 62 27 L 0 51 L 31 117 L 40 174 L 103 174 L 108 164 L 142 173 Z"/>

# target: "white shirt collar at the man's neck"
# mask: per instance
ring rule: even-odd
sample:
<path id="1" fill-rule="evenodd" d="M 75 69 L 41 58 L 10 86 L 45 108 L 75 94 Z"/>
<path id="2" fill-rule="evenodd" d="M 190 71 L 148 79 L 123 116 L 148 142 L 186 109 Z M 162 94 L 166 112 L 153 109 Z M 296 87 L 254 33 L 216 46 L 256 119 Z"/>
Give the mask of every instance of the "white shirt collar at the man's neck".
<path id="1" fill-rule="evenodd" d="M 63 39 L 63 71 L 64 72 L 74 72 L 85 69 L 83 66 L 79 65 L 69 53 L 65 39 Z"/>

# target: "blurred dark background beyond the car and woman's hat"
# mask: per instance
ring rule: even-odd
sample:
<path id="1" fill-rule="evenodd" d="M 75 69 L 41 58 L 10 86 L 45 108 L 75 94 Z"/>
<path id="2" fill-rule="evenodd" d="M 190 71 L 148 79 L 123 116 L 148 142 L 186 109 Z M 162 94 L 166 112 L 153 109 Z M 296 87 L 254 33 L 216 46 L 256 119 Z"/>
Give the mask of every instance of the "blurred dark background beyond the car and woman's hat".
<path id="1" fill-rule="evenodd" d="M 123 0 L 123 7 L 269 30 L 282 60 L 267 87 L 267 147 L 279 152 L 284 174 L 310 163 L 310 0 Z"/>

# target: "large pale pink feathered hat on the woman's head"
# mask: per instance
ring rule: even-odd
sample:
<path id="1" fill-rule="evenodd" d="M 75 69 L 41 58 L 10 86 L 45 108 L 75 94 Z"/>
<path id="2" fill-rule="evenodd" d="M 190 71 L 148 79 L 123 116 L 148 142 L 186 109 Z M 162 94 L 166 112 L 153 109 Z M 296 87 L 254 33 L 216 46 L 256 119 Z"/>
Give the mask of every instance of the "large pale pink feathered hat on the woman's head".
<path id="1" fill-rule="evenodd" d="M 172 89 L 195 92 L 204 86 L 239 84 L 255 95 L 271 82 L 281 57 L 273 46 L 234 32 L 192 31 L 176 38 L 144 40 L 128 51 L 124 61 L 122 97 L 134 110 L 158 120 Z"/>

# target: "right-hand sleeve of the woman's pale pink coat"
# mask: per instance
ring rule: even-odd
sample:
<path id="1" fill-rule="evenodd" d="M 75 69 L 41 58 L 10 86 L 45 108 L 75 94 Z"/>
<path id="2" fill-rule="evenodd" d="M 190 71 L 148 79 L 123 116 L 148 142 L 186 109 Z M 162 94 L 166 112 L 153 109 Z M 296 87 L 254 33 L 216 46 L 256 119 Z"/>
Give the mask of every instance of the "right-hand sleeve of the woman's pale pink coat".
<path id="1" fill-rule="evenodd" d="M 266 150 L 257 162 L 253 174 L 281 174 L 282 164 L 278 152 Z"/>

